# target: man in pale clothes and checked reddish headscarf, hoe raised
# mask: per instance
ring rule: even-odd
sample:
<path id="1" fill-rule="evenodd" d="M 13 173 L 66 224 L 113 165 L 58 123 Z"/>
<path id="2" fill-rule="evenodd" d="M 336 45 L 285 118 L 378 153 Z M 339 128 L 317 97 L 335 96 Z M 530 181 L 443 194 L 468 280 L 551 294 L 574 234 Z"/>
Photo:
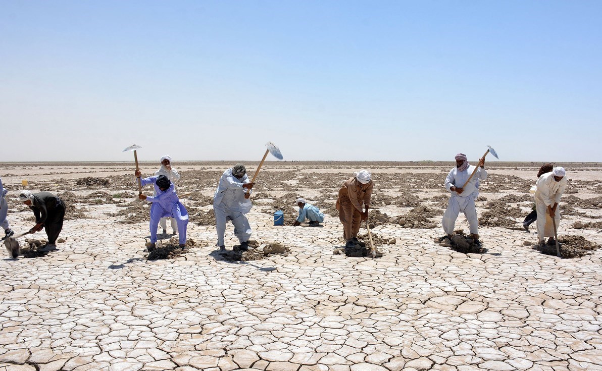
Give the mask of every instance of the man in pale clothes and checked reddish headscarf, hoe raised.
<path id="1" fill-rule="evenodd" d="M 447 233 L 447 236 L 452 239 L 453 228 L 456 224 L 456 219 L 458 219 L 458 214 L 463 212 L 468 220 L 470 235 L 474 239 L 474 244 L 480 247 L 479 219 L 477 219 L 477 209 L 474 206 L 474 200 L 479 195 L 479 180 L 487 179 L 485 158 L 479 159 L 479 168 L 472 178 L 470 177 L 474 166 L 468 164 L 466 155 L 458 153 L 455 158 L 456 167 L 445 178 L 445 188 L 452 192 L 452 196 L 443 214 L 441 224 L 443 224 L 443 230 Z M 470 182 L 464 188 L 461 188 L 469 178 Z"/>

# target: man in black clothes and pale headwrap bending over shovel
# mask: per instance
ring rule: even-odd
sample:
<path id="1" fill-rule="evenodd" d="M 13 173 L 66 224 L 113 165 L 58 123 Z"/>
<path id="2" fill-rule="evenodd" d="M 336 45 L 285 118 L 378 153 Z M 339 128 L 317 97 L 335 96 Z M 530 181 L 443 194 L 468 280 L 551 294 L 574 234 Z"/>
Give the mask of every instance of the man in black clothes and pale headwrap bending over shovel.
<path id="1" fill-rule="evenodd" d="M 57 250 L 57 238 L 63 229 L 63 219 L 65 217 L 65 204 L 63 200 L 50 192 L 31 193 L 21 191 L 19 201 L 29 206 L 36 215 L 36 225 L 29 230 L 29 233 L 46 229 L 48 243 L 39 251 Z"/>

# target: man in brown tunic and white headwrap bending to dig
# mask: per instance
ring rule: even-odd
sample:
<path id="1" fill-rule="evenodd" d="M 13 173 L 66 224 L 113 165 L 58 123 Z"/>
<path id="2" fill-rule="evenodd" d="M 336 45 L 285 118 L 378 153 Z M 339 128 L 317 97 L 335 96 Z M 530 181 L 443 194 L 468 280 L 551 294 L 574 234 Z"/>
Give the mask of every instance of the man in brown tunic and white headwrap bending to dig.
<path id="1" fill-rule="evenodd" d="M 362 170 L 339 189 L 337 210 L 343 223 L 343 238 L 347 241 L 345 247 L 352 248 L 358 242 L 359 225 L 368 218 L 372 188 L 370 171 Z"/>

